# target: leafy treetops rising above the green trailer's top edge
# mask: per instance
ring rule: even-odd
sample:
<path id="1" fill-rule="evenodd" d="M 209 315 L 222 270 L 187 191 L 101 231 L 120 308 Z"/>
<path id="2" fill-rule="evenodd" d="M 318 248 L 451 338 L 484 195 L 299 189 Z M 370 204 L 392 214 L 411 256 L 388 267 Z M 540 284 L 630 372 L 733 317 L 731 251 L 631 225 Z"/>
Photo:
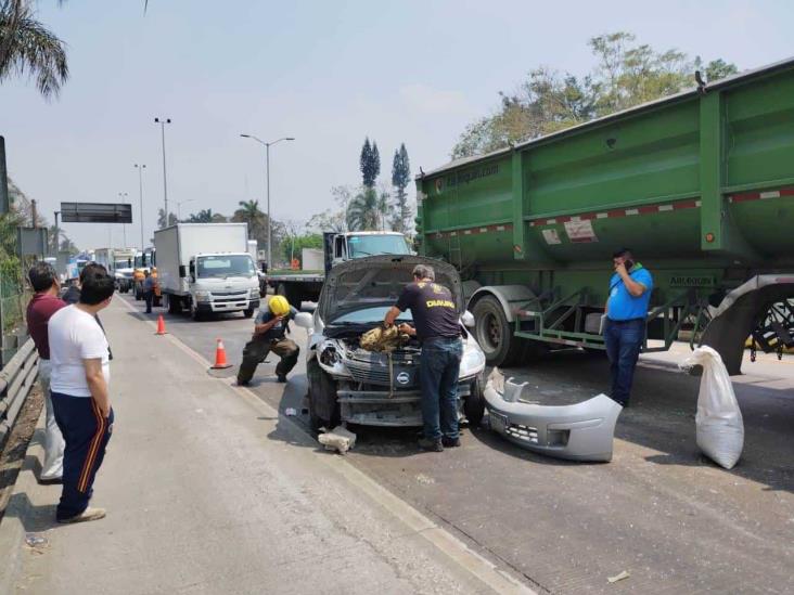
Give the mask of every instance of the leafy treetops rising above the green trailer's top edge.
<path id="1" fill-rule="evenodd" d="M 578 78 L 548 67 L 530 70 L 513 93 L 500 92 L 491 116 L 470 124 L 452 148 L 452 158 L 481 155 L 511 143 L 549 134 L 695 86 L 701 70 L 708 81 L 735 74 L 722 60 L 703 64 L 677 50 L 657 52 L 636 44 L 629 33 L 593 37 L 592 73 Z"/>

